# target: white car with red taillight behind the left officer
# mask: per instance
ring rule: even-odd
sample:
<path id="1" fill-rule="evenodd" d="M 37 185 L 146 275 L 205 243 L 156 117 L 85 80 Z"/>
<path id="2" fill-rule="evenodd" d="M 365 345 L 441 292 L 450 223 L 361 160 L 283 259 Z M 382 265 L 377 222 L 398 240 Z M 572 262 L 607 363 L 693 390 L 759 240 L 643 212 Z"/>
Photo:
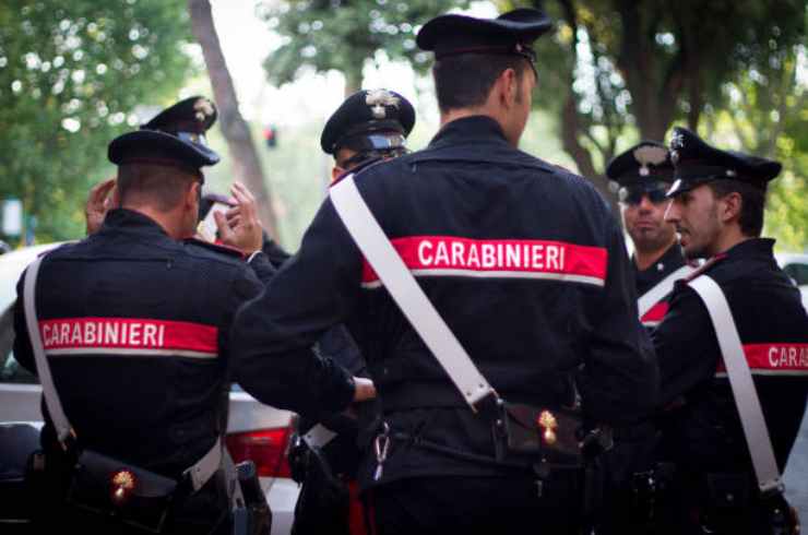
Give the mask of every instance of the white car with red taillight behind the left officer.
<path id="1" fill-rule="evenodd" d="M 13 305 L 22 272 L 38 254 L 56 246 L 58 243 L 35 246 L 0 255 L 0 433 L 3 426 L 15 423 L 41 426 L 41 388 L 36 377 L 14 360 L 12 352 Z M 237 463 L 247 459 L 254 461 L 272 510 L 272 535 L 290 533 L 299 494 L 286 459 L 293 418 L 293 413 L 263 405 L 237 385 L 230 391 L 227 448 Z M 0 478 L 15 476 L 3 473 L 3 468 L 0 459 Z M 16 476 L 22 477 L 22 474 Z M 0 518 L 0 533 L 4 532 L 2 526 Z"/>

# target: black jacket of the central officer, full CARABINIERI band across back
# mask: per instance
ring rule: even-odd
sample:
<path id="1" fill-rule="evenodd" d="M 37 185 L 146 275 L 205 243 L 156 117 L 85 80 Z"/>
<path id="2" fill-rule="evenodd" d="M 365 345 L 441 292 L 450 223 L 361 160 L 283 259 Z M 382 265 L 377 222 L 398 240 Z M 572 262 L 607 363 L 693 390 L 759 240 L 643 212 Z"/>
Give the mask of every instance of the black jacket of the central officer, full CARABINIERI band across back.
<path id="1" fill-rule="evenodd" d="M 514 402 L 571 403 L 631 420 L 656 402 L 653 350 L 637 319 L 622 235 L 586 180 L 513 148 L 477 116 L 428 148 L 365 168 L 364 199 L 494 388 Z M 341 408 L 344 376 L 312 366 L 311 343 L 345 321 L 393 431 L 492 455 L 472 413 L 325 200 L 300 251 L 234 326 L 242 385 L 297 412 Z M 382 482 L 500 467 L 393 444 Z"/>

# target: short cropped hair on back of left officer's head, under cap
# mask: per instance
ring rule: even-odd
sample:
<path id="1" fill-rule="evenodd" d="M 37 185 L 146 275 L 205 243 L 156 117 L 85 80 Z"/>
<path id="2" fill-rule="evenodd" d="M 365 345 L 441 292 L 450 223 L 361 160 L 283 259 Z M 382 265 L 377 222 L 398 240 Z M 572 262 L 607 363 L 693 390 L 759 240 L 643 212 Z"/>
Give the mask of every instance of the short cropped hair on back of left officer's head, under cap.
<path id="1" fill-rule="evenodd" d="M 148 204 L 169 212 L 182 202 L 188 188 L 199 176 L 177 167 L 131 163 L 118 168 L 118 194 L 121 204 Z"/>

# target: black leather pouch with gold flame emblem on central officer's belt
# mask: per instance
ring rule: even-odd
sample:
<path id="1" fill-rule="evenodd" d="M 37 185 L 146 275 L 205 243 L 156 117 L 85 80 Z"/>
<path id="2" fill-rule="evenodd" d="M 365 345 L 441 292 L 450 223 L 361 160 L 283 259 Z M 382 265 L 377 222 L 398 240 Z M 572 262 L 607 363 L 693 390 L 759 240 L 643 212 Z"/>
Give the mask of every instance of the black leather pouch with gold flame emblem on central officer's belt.
<path id="1" fill-rule="evenodd" d="M 575 411 L 503 402 L 499 421 L 506 460 L 532 460 L 570 468 L 583 465 L 579 438 L 583 424 Z"/>

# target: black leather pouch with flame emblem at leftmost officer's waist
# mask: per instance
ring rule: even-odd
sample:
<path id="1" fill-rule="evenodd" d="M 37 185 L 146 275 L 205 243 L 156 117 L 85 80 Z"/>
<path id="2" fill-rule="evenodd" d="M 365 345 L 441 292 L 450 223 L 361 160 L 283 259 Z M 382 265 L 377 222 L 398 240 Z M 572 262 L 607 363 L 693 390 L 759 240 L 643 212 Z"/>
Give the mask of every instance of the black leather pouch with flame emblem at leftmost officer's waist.
<path id="1" fill-rule="evenodd" d="M 175 479 L 84 450 L 73 469 L 67 501 L 145 532 L 159 533 L 176 489 Z"/>

